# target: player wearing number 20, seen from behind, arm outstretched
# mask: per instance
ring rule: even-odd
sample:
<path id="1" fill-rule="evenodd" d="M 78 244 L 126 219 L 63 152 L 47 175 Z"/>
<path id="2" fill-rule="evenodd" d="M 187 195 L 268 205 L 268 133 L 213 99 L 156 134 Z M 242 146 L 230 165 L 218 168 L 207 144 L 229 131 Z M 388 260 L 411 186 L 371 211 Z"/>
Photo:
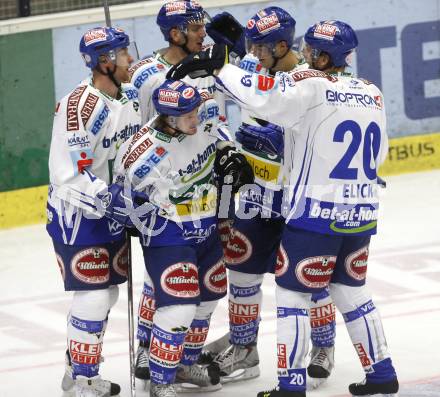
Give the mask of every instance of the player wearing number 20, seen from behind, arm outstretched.
<path id="1" fill-rule="evenodd" d="M 217 74 L 219 87 L 241 106 L 286 128 L 284 172 L 291 206 L 276 277 L 279 385 L 260 397 L 306 395 L 310 295 L 329 283 L 366 373 L 349 391 L 394 396 L 399 388 L 382 322 L 365 286 L 377 226 L 377 169 L 388 139 L 382 93 L 345 73 L 357 44 L 346 23 L 322 21 L 308 29 L 303 49 L 316 70 L 281 74 L 265 85 L 260 76 L 232 65 Z M 212 74 L 225 61 L 219 47 L 187 57 L 170 76 Z"/>

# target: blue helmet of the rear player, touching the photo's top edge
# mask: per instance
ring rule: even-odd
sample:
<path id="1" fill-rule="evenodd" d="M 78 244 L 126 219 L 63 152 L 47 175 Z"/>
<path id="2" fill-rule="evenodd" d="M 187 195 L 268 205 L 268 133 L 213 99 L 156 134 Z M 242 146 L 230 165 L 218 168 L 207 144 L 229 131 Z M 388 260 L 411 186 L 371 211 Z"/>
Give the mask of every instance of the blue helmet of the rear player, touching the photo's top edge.
<path id="1" fill-rule="evenodd" d="M 199 3 L 178 0 L 169 1 L 160 8 L 156 23 L 159 25 L 165 40 L 169 41 L 172 28 L 185 32 L 189 24 L 205 24 L 208 20 L 208 13 Z"/>

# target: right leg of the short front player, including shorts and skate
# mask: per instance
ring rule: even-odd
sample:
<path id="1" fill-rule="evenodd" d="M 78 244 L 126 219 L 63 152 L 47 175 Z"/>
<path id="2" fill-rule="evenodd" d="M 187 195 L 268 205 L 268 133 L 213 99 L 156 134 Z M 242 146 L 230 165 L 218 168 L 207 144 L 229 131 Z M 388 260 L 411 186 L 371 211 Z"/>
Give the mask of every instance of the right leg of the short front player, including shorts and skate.
<path id="1" fill-rule="evenodd" d="M 181 392 L 206 392 L 219 390 L 220 371 L 218 367 L 198 364 L 199 356 L 208 336 L 212 313 L 218 301 L 226 295 L 227 276 L 223 250 L 217 233 L 197 244 L 199 268 L 200 305 L 185 338 L 182 360 L 176 381 Z"/>

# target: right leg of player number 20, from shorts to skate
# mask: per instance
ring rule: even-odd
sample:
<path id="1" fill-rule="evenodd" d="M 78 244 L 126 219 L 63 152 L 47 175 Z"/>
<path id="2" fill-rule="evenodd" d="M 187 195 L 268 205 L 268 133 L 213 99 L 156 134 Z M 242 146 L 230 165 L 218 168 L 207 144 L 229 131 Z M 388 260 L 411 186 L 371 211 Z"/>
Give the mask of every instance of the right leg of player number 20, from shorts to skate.
<path id="1" fill-rule="evenodd" d="M 364 382 L 351 384 L 350 392 L 354 396 L 392 396 L 399 389 L 397 375 L 379 311 L 365 286 L 369 241 L 369 237 L 344 238 L 330 293 L 365 371 Z"/>

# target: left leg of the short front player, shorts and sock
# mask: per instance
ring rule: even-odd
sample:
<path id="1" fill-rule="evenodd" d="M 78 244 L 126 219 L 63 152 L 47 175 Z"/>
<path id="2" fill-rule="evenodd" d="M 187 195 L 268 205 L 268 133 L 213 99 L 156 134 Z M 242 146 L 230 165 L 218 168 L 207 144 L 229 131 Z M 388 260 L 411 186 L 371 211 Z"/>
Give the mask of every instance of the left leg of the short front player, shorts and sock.
<path id="1" fill-rule="evenodd" d="M 177 367 L 200 302 L 197 258 L 191 246 L 143 247 L 156 312 L 150 340 L 150 396 L 177 396 Z"/>

